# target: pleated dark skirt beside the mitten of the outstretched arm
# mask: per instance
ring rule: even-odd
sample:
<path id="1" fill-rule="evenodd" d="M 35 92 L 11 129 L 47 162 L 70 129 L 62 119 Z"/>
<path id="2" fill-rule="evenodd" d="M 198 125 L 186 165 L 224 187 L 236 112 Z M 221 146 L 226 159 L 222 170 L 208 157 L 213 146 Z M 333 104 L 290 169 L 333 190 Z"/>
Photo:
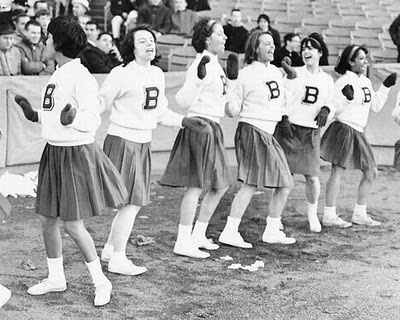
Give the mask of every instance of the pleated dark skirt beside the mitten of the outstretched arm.
<path id="1" fill-rule="evenodd" d="M 195 188 L 229 186 L 229 165 L 221 127 L 214 121 L 201 119 L 211 126 L 212 133 L 181 129 L 160 184 Z"/>

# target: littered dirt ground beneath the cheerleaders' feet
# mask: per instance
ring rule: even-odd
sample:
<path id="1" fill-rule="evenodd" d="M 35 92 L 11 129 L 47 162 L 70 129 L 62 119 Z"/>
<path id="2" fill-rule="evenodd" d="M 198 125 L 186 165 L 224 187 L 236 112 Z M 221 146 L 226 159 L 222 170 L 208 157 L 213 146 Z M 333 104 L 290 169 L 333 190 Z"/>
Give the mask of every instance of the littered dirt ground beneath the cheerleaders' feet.
<path id="1" fill-rule="evenodd" d="M 329 168 L 321 173 L 321 217 Z M 235 171 L 232 171 L 235 177 Z M 138 277 L 108 273 L 112 300 L 93 307 L 93 287 L 82 256 L 68 236 L 64 264 L 68 290 L 31 297 L 29 286 L 47 275 L 34 198 L 11 198 L 13 211 L 0 225 L 0 282 L 13 295 L 0 319 L 400 319 L 400 173 L 381 168 L 369 200 L 369 212 L 382 226 L 323 228 L 311 233 L 306 217 L 305 183 L 295 187 L 284 211 L 285 232 L 297 239 L 292 246 L 261 241 L 269 191 L 251 202 L 240 226 L 253 249 L 221 245 L 211 258 L 195 260 L 172 252 L 183 189 L 159 186 L 154 175 L 152 203 L 136 221 L 128 256 L 149 271 Z M 342 184 L 338 211 L 349 220 L 356 199 L 359 172 L 349 172 Z M 222 231 L 235 183 L 222 199 L 208 228 L 215 241 Z M 98 252 L 106 240 L 112 215 L 86 222 Z M 138 235 L 155 243 L 137 246 Z M 220 259 L 229 255 L 232 261 Z M 255 272 L 232 270 L 232 263 L 265 263 Z M 30 269 L 27 263 L 31 263 Z M 35 269 L 36 267 L 36 269 Z"/>

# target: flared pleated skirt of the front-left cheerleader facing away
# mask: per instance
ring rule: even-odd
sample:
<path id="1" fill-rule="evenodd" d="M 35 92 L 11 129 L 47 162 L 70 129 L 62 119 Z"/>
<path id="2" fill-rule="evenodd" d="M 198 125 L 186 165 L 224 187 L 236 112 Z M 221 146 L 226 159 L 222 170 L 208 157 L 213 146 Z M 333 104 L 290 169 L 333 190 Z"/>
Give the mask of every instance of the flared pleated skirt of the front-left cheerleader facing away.
<path id="1" fill-rule="evenodd" d="M 39 165 L 36 213 L 77 221 L 120 208 L 127 192 L 120 174 L 95 143 L 46 144 Z"/>

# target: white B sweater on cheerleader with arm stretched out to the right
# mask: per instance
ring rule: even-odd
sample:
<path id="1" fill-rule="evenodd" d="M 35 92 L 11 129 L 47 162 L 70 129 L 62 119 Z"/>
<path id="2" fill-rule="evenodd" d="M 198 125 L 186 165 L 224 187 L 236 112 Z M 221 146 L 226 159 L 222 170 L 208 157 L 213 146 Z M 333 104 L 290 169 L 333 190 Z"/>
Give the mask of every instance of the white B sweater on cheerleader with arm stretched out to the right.
<path id="1" fill-rule="evenodd" d="M 111 108 L 108 133 L 126 140 L 151 141 L 157 123 L 182 125 L 184 116 L 168 109 L 164 73 L 156 66 L 144 67 L 132 61 L 112 69 L 98 97 L 101 111 Z"/>

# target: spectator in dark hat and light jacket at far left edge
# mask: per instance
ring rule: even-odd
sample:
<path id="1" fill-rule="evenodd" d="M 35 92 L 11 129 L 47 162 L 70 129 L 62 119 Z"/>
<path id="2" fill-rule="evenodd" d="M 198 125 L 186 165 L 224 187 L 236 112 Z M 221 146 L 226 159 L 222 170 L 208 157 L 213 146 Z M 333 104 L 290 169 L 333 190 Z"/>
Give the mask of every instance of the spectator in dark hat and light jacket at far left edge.
<path id="1" fill-rule="evenodd" d="M 0 25 L 0 76 L 21 74 L 21 52 L 15 46 L 14 30 L 9 24 Z"/>

